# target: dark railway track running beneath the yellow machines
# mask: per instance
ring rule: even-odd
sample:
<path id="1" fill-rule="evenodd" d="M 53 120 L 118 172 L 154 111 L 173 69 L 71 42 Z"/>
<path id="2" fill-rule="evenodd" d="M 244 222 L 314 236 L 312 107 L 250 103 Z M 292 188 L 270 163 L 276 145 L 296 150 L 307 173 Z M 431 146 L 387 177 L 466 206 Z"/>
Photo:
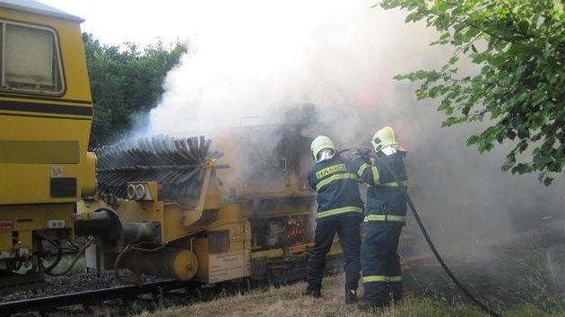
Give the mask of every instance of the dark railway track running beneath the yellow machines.
<path id="1" fill-rule="evenodd" d="M 330 260 L 331 261 L 331 260 Z M 292 273 L 300 268 L 291 268 L 288 263 L 276 262 L 275 268 Z M 303 269 L 302 269 L 303 270 Z M 328 270 L 327 274 L 338 271 Z M 215 285 L 204 285 L 196 281 L 159 280 L 143 285 L 101 287 L 88 290 L 69 290 L 68 294 L 33 296 L 0 303 L 0 316 L 120 316 L 152 311 L 168 305 L 206 302 L 230 294 L 244 294 L 250 289 L 280 286 L 295 283 L 301 278 L 288 278 L 284 272 L 265 280 L 242 278 Z M 285 278 L 286 277 L 286 278 Z M 303 277 L 302 277 L 303 278 Z M 65 287 L 65 285 L 60 285 Z"/>

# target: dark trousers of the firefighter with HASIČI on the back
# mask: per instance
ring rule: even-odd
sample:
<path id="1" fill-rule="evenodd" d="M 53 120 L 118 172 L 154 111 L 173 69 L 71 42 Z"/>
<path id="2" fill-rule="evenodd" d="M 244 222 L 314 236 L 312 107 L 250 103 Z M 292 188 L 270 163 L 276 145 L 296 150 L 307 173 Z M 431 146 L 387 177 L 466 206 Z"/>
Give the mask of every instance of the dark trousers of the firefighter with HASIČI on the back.
<path id="1" fill-rule="evenodd" d="M 361 219 L 358 217 L 337 217 L 319 221 L 316 225 L 314 247 L 309 254 L 308 287 L 320 290 L 326 269 L 326 253 L 329 252 L 337 233 L 343 249 L 343 271 L 345 288 L 357 290 L 361 277 Z"/>

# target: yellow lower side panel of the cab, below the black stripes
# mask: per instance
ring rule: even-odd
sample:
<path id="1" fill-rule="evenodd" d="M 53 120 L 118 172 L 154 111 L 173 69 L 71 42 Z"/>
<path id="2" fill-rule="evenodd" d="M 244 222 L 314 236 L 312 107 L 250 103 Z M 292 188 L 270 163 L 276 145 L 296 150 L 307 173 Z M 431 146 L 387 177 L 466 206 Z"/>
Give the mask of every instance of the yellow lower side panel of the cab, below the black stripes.
<path id="1" fill-rule="evenodd" d="M 55 126 L 38 130 L 46 124 Z M 20 128 L 28 125 L 32 128 Z M 89 128 L 90 122 L 83 120 L 55 122 L 50 118 L 0 116 L 0 204 L 77 201 L 87 174 L 84 167 Z M 80 131 L 84 132 L 83 141 L 64 140 L 72 132 L 74 137 L 80 136 Z M 15 164 L 15 159 L 23 164 Z M 76 178 L 76 194 L 52 198 L 52 177 Z"/>

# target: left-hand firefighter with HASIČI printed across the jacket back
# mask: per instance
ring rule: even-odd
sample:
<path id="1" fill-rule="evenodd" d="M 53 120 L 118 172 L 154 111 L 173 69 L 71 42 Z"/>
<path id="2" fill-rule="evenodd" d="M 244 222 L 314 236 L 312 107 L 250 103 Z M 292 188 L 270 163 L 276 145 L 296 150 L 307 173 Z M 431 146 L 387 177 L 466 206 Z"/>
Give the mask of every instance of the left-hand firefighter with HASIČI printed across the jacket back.
<path id="1" fill-rule="evenodd" d="M 317 192 L 317 225 L 314 247 L 309 253 L 308 287 L 305 296 L 321 297 L 322 278 L 329 252 L 337 233 L 343 249 L 345 271 L 345 304 L 357 303 L 357 287 L 361 277 L 361 221 L 363 201 L 357 183 L 357 170 L 352 159 L 335 152 L 334 142 L 317 136 L 311 144 L 316 161 L 309 170 L 309 185 Z"/>

